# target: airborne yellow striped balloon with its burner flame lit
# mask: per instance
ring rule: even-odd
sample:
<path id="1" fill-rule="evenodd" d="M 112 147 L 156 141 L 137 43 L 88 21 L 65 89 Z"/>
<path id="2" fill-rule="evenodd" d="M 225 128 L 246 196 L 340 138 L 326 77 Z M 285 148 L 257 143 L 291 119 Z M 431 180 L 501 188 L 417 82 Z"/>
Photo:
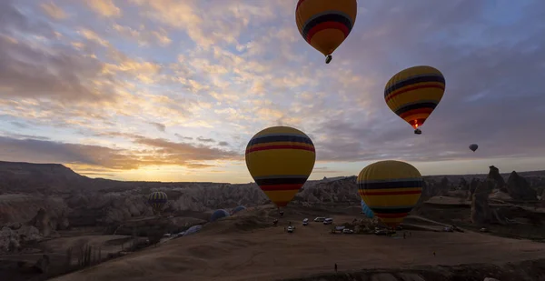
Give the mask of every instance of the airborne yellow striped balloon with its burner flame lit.
<path id="1" fill-rule="evenodd" d="M 445 77 L 431 66 L 413 66 L 393 75 L 384 88 L 384 100 L 396 115 L 421 134 L 419 127 L 441 101 Z"/>

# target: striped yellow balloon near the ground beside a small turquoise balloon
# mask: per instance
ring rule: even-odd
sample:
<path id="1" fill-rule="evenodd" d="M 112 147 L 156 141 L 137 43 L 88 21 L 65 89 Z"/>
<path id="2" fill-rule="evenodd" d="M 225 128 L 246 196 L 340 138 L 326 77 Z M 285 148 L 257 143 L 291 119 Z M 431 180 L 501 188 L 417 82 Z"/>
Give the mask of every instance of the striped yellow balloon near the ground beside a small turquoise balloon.
<path id="1" fill-rule="evenodd" d="M 411 164 L 386 160 L 366 166 L 358 176 L 362 200 L 386 226 L 395 227 L 421 196 L 423 180 Z"/>

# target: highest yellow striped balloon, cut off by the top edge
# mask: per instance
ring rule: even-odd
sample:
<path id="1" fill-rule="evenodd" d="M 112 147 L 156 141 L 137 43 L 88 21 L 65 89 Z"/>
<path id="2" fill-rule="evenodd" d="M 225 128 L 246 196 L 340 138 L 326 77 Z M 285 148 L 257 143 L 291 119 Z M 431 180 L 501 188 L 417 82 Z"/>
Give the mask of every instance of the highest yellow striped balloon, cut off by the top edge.
<path id="1" fill-rule="evenodd" d="M 333 51 L 352 31 L 357 13 L 356 0 L 299 0 L 295 21 L 302 38 L 329 64 Z"/>

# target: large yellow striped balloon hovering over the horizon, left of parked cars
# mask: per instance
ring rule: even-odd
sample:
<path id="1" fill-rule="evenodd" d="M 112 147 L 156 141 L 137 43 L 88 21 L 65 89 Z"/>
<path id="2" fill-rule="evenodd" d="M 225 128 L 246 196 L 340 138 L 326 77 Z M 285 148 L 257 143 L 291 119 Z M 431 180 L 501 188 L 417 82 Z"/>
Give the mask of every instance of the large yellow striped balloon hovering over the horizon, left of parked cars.
<path id="1" fill-rule="evenodd" d="M 315 160 L 311 138 L 289 126 L 266 128 L 246 146 L 250 175 L 279 211 L 311 176 Z"/>

